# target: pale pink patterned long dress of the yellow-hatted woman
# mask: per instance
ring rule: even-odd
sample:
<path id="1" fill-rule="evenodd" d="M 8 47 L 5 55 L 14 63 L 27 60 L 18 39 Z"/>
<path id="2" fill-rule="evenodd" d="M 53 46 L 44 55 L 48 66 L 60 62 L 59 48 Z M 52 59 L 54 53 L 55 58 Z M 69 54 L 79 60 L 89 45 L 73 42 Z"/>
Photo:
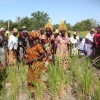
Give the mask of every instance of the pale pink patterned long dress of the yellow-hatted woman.
<path id="1" fill-rule="evenodd" d="M 69 56 L 68 46 L 67 46 L 68 43 L 69 39 L 67 36 L 65 37 L 58 36 L 55 40 L 55 44 L 57 45 L 55 56 L 64 70 L 68 67 L 68 56 Z"/>

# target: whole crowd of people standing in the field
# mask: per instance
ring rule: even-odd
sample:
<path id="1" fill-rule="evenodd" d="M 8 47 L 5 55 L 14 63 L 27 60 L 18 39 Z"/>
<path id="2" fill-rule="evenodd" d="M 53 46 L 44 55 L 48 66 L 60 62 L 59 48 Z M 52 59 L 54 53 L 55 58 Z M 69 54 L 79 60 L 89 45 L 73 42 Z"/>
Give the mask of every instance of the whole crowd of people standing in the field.
<path id="1" fill-rule="evenodd" d="M 48 64 L 54 63 L 56 58 L 66 70 L 70 55 L 90 57 L 94 54 L 94 47 L 99 51 L 100 27 L 97 28 L 97 33 L 94 33 L 95 30 L 91 29 L 86 39 L 83 36 L 79 37 L 77 32 L 71 35 L 71 31 L 67 31 L 64 20 L 54 34 L 51 20 L 44 28 L 32 30 L 30 33 L 25 26 L 19 34 L 14 28 L 9 37 L 5 36 L 5 29 L 1 28 L 0 63 L 13 66 L 16 62 L 26 59 L 26 64 L 29 66 L 28 86 L 31 88 L 32 82 L 38 80 L 41 72 L 48 70 Z M 100 55 L 100 52 L 98 53 Z"/>

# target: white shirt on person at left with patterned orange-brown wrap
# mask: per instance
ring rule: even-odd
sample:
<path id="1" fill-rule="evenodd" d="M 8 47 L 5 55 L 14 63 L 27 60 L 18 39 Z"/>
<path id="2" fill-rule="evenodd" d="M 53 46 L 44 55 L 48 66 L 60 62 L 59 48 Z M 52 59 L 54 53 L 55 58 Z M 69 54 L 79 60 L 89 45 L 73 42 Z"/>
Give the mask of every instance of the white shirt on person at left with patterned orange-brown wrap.
<path id="1" fill-rule="evenodd" d="M 18 47 L 18 39 L 14 35 L 9 36 L 8 49 L 9 50 L 17 49 L 17 47 Z"/>

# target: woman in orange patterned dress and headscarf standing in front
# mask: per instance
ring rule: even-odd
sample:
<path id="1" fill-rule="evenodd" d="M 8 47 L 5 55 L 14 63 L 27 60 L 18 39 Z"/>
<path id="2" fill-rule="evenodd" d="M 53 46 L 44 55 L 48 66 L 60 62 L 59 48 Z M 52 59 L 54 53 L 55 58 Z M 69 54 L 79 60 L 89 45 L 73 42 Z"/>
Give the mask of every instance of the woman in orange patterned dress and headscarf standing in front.
<path id="1" fill-rule="evenodd" d="M 43 47 L 39 43 L 38 31 L 31 32 L 29 35 L 30 47 L 26 50 L 26 62 L 29 65 L 28 69 L 28 86 L 33 87 L 34 81 L 38 81 L 43 70 L 43 58 L 45 56 Z"/>

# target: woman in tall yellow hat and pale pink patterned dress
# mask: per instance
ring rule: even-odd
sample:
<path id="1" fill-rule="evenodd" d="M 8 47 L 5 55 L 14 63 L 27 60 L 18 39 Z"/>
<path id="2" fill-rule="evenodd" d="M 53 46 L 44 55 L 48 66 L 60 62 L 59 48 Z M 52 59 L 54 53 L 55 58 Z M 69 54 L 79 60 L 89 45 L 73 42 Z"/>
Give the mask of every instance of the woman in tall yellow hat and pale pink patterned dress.
<path id="1" fill-rule="evenodd" d="M 61 35 L 59 35 L 55 40 L 55 44 L 57 45 L 56 57 L 58 58 L 59 62 L 62 63 L 63 68 L 66 69 L 66 66 L 68 64 L 67 57 L 69 55 L 68 51 L 69 39 L 65 34 L 67 31 L 67 26 L 64 24 L 64 20 L 61 21 L 61 25 L 59 26 L 59 31 Z"/>

